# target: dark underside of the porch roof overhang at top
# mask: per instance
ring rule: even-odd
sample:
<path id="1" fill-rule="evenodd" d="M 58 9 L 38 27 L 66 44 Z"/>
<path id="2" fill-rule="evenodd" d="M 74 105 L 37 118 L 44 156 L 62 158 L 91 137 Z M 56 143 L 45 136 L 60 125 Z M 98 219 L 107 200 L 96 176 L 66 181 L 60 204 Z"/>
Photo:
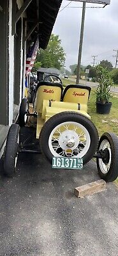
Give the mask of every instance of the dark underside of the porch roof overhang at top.
<path id="1" fill-rule="evenodd" d="M 36 31 L 38 32 L 40 48 L 42 49 L 47 47 L 61 3 L 62 0 L 35 0 L 31 1 L 27 8 L 29 29 L 33 24 L 31 20 L 35 20 L 37 26 L 32 36 Z"/>

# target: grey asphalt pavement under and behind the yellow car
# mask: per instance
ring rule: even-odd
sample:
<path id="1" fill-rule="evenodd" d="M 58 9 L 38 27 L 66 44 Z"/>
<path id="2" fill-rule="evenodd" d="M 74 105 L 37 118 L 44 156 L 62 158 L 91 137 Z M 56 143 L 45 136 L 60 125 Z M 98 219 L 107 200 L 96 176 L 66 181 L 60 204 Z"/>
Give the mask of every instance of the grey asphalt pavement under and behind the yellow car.
<path id="1" fill-rule="evenodd" d="M 1 256 L 118 255 L 114 184 L 85 198 L 73 195 L 75 187 L 100 179 L 93 161 L 83 170 L 52 170 L 41 154 L 20 154 L 13 179 L 2 170 L 1 161 Z"/>

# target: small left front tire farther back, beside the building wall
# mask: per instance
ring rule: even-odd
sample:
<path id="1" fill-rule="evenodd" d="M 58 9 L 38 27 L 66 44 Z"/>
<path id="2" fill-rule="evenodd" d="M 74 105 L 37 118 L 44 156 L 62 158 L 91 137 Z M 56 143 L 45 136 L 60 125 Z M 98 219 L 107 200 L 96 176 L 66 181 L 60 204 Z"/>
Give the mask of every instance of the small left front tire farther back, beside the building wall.
<path id="1" fill-rule="evenodd" d="M 27 119 L 26 118 L 26 113 L 27 110 L 29 109 L 29 103 L 26 98 L 22 99 L 22 102 L 20 104 L 20 110 L 19 110 L 19 125 L 20 127 L 25 126 L 27 124 Z"/>

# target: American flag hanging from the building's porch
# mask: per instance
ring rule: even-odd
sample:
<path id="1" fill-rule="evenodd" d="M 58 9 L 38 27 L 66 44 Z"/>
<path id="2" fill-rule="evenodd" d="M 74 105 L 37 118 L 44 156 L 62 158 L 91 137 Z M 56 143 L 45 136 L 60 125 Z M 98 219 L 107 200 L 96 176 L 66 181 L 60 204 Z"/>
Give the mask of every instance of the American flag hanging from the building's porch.
<path id="1" fill-rule="evenodd" d="M 33 68 L 34 61 L 36 60 L 36 54 L 38 52 L 39 47 L 39 40 L 36 39 L 36 42 L 34 42 L 33 46 L 31 46 L 29 52 L 27 53 L 27 60 L 26 60 L 26 77 L 31 72 L 31 69 Z"/>

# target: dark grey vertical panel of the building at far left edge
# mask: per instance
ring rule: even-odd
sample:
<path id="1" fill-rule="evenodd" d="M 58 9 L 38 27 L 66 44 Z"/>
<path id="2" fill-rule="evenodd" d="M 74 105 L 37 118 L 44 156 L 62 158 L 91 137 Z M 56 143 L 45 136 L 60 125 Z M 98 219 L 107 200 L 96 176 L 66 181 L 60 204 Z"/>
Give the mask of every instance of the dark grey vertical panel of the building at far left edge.
<path id="1" fill-rule="evenodd" d="M 8 22 L 9 4 L 7 0 L 0 0 L 2 11 L 0 12 L 0 125 L 8 125 Z"/>

